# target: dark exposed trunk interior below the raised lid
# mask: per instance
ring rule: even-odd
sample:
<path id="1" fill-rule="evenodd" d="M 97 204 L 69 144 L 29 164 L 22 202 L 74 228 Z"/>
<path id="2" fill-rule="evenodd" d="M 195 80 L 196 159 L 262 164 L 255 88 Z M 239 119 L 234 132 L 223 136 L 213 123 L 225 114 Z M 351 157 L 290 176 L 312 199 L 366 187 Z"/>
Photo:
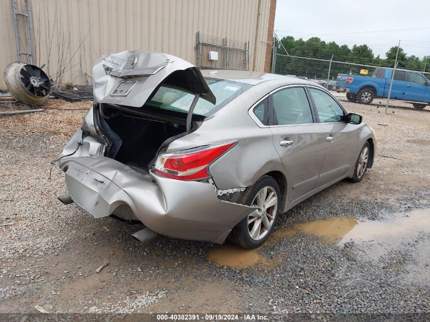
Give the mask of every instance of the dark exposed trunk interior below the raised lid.
<path id="1" fill-rule="evenodd" d="M 106 156 L 145 172 L 166 139 L 186 132 L 182 125 L 106 107 L 100 125 L 111 140 Z"/>

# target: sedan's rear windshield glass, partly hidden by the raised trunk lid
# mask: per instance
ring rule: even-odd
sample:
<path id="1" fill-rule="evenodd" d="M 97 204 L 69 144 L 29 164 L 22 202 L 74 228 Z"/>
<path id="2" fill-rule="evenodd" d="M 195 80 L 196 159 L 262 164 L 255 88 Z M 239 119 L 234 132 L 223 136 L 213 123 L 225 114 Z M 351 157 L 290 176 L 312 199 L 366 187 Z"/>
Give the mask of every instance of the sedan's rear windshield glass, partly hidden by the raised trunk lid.
<path id="1" fill-rule="evenodd" d="M 214 105 L 207 100 L 200 98 L 195 105 L 193 114 L 210 116 L 252 87 L 245 83 L 226 79 L 205 77 L 205 81 L 209 85 L 212 93 L 215 95 L 216 104 Z M 170 111 L 188 113 L 193 99 L 193 94 L 171 87 L 160 86 L 158 91 L 145 103 L 145 105 Z"/>

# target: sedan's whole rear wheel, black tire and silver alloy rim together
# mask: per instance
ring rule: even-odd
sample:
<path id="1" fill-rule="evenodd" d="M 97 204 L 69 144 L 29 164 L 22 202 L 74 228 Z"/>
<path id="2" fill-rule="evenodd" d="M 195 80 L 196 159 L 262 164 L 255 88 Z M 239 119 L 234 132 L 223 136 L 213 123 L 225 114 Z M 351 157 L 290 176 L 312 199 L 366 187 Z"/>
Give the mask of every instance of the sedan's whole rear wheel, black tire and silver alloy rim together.
<path id="1" fill-rule="evenodd" d="M 280 210 L 280 198 L 276 180 L 269 175 L 263 175 L 252 187 L 245 190 L 241 202 L 257 209 L 232 229 L 228 239 L 244 248 L 262 245 L 275 227 Z"/>

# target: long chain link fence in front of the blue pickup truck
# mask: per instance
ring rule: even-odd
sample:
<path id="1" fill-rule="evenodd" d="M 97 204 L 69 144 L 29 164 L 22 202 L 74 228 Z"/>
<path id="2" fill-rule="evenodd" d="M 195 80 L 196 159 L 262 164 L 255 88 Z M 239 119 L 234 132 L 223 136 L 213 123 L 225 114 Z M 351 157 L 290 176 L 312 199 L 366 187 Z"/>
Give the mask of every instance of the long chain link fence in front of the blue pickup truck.
<path id="1" fill-rule="evenodd" d="M 395 108 L 430 108 L 430 73 L 274 54 L 272 72 L 318 83 L 350 102 Z M 394 74 L 394 75 L 393 75 Z"/>

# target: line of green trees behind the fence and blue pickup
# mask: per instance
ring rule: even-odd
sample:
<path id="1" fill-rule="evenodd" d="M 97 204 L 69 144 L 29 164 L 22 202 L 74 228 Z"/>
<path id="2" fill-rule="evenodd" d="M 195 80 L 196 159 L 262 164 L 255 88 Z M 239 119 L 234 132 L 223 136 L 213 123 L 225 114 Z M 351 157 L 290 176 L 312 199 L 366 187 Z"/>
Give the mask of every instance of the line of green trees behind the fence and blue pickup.
<path id="1" fill-rule="evenodd" d="M 293 36 L 282 37 L 280 41 L 275 39 L 275 48 L 277 54 L 286 54 L 286 50 L 289 55 L 324 60 L 330 60 L 333 55 L 333 61 L 387 68 L 394 67 L 397 52 L 397 46 L 394 46 L 385 53 L 385 57 L 380 57 L 380 55 L 375 56 L 372 49 L 366 44 L 354 45 L 350 48 L 348 45 L 338 45 L 334 41 L 327 43 L 318 37 L 312 37 L 305 41 L 302 38 L 295 39 Z M 400 69 L 430 72 L 430 55 L 423 58 L 408 55 L 401 46 L 398 50 L 397 62 L 397 68 Z M 335 78 L 339 73 L 359 73 L 361 69 L 367 69 L 369 74 L 374 70 L 373 68 L 332 63 L 330 78 Z M 277 55 L 275 73 L 308 78 L 326 78 L 328 76 L 328 63 Z"/>

